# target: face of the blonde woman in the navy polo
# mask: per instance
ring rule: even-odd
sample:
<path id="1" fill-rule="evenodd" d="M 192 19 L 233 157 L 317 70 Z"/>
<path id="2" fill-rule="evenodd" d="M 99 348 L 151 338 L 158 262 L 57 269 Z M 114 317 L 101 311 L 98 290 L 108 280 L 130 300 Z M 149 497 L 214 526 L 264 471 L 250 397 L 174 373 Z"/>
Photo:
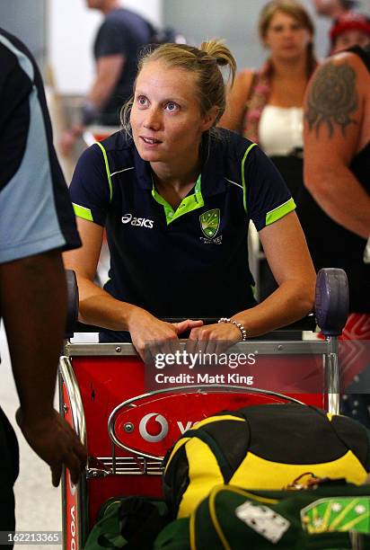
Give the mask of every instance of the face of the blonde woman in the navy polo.
<path id="1" fill-rule="evenodd" d="M 202 133 L 212 126 L 202 116 L 195 76 L 149 61 L 137 76 L 130 122 L 138 154 L 150 163 L 181 164 L 198 159 Z"/>

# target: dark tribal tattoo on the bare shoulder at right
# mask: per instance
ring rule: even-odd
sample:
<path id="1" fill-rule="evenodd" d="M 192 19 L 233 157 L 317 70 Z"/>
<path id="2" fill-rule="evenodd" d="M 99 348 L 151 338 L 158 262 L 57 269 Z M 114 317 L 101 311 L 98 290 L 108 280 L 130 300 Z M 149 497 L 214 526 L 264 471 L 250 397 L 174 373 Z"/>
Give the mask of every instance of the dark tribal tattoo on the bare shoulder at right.
<path id="1" fill-rule="evenodd" d="M 319 69 L 313 77 L 307 102 L 305 118 L 310 131 L 315 129 L 318 136 L 320 127 L 326 124 L 329 137 L 332 137 L 335 125 L 338 125 L 345 136 L 348 124 L 357 124 L 356 120 L 350 118 L 350 114 L 358 108 L 356 73 L 353 68 L 328 63 Z"/>

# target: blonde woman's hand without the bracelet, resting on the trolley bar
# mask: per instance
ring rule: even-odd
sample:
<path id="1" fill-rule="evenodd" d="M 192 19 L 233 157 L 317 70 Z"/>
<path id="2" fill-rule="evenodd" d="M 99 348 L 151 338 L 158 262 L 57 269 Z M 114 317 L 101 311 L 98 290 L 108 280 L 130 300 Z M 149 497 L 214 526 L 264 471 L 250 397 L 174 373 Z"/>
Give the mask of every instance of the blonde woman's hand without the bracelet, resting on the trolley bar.
<path id="1" fill-rule="evenodd" d="M 136 307 L 128 320 L 132 343 L 141 359 L 149 360 L 156 353 L 175 353 L 179 350 L 179 336 L 200 327 L 203 321 L 186 319 L 181 323 L 166 323 L 145 309 Z"/>

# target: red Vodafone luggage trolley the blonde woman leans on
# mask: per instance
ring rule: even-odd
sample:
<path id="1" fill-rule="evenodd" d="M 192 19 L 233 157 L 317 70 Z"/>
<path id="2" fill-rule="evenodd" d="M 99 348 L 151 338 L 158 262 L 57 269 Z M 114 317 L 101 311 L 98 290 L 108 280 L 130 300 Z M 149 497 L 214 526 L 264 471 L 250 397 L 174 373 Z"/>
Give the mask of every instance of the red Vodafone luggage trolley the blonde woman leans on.
<path id="1" fill-rule="evenodd" d="M 78 311 L 73 271 L 67 272 L 67 285 L 67 324 L 73 327 Z M 220 410 L 289 401 L 338 413 L 338 336 L 348 315 L 344 271 L 319 272 L 315 315 L 325 340 L 251 340 L 235 345 L 246 354 L 258 354 L 260 365 L 269 367 L 260 369 L 265 372 L 261 387 L 207 384 L 145 394 L 144 363 L 132 344 L 66 340 L 59 364 L 60 412 L 86 442 L 88 463 L 77 485 L 68 470 L 62 476 L 64 548 L 84 547 L 108 498 L 159 497 L 163 456 L 195 421 Z M 285 378 L 284 393 L 276 391 L 279 377 Z M 308 381 L 304 391 L 300 389 L 303 379 Z M 318 384 L 322 392 L 314 393 Z"/>

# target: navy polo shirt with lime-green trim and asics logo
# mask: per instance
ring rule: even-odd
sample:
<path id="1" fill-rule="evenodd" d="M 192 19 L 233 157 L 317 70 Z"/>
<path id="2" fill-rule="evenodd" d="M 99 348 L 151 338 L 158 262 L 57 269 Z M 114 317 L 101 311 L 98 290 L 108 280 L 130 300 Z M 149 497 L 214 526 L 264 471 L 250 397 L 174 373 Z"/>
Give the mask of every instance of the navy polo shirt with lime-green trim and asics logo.
<path id="1" fill-rule="evenodd" d="M 250 219 L 260 231 L 295 208 L 285 182 L 251 141 L 217 130 L 198 181 L 176 210 L 123 131 L 89 147 L 70 192 L 78 217 L 107 230 L 119 300 L 159 317 L 231 316 L 255 304 Z"/>

